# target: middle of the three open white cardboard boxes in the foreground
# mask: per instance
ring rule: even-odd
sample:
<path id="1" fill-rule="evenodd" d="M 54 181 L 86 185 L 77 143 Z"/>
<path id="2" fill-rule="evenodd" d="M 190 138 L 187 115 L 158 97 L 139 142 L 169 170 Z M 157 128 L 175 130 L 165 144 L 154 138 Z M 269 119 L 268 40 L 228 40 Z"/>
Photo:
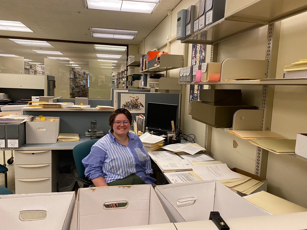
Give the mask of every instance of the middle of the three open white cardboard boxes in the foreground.
<path id="1" fill-rule="evenodd" d="M 123 207 L 108 208 L 109 203 Z M 78 190 L 71 230 L 119 228 L 169 223 L 151 185 L 109 186 Z"/>

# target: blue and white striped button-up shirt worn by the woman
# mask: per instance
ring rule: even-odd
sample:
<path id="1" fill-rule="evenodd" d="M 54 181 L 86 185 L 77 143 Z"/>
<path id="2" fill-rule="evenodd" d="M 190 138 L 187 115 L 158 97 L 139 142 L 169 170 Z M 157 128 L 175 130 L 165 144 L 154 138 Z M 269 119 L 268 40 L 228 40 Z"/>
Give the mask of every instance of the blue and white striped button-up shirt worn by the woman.
<path id="1" fill-rule="evenodd" d="M 110 183 L 135 173 L 146 184 L 153 184 L 156 179 L 146 175 L 152 174 L 153 170 L 142 141 L 132 132 L 127 135 L 128 146 L 120 144 L 111 133 L 98 140 L 82 160 L 85 176 L 90 179 L 103 177 Z"/>

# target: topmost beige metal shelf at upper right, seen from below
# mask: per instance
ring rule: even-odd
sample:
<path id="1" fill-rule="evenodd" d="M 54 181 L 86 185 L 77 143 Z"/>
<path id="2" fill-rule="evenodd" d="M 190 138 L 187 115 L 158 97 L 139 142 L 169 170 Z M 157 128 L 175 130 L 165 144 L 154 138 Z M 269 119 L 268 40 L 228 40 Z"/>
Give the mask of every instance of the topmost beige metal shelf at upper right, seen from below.
<path id="1" fill-rule="evenodd" d="M 304 11 L 307 11 L 305 0 L 226 1 L 223 19 L 199 30 L 181 43 L 215 44 Z"/>

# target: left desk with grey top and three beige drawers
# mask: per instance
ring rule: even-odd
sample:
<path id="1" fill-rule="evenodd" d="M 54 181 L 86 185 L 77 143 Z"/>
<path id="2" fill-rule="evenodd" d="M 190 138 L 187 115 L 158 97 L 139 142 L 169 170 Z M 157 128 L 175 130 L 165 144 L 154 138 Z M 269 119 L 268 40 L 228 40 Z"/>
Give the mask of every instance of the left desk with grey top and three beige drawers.
<path id="1" fill-rule="evenodd" d="M 71 151 L 77 144 L 90 140 L 56 142 L 55 144 L 24 144 L 15 150 L 16 194 L 57 192 L 56 174 L 59 158 L 71 157 L 63 151 Z"/>

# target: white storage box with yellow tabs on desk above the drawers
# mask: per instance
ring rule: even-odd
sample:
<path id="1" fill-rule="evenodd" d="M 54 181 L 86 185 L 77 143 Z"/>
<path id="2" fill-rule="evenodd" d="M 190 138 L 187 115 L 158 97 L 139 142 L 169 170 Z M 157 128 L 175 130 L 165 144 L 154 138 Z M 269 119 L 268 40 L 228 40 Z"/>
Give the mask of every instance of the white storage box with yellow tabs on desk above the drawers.
<path id="1" fill-rule="evenodd" d="M 25 123 L 26 144 L 54 144 L 59 133 L 60 117 L 45 117 L 45 121 L 34 117 Z"/>

